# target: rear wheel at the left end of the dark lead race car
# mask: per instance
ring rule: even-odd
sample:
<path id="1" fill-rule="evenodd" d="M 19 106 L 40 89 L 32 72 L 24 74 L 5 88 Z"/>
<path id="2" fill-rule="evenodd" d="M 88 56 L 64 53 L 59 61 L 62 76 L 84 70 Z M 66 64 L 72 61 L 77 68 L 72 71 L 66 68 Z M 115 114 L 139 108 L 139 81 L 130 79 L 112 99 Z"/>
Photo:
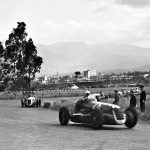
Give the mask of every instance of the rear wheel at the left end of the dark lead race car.
<path id="1" fill-rule="evenodd" d="M 61 125 L 67 125 L 69 122 L 69 110 L 67 107 L 61 107 L 59 110 L 59 122 Z"/>

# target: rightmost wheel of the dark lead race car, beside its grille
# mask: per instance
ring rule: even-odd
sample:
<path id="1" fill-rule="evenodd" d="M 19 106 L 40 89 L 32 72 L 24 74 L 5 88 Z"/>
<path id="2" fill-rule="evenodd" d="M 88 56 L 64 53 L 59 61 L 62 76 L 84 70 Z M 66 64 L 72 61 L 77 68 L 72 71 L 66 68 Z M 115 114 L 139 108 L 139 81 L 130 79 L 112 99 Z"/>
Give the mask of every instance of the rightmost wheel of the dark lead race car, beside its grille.
<path id="1" fill-rule="evenodd" d="M 126 122 L 125 122 L 126 127 L 133 128 L 138 121 L 137 111 L 132 107 L 128 107 L 125 110 L 125 114 L 126 114 Z"/>

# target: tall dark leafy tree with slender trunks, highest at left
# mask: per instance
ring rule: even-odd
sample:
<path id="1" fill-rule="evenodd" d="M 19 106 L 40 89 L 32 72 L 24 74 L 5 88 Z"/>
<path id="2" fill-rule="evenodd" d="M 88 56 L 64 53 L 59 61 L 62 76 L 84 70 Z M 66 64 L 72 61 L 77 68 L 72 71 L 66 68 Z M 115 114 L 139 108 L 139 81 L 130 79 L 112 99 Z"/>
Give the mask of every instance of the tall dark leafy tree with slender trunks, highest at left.
<path id="1" fill-rule="evenodd" d="M 24 94 L 24 84 L 28 83 L 30 92 L 31 80 L 35 74 L 40 71 L 43 63 L 42 57 L 37 56 L 37 49 L 30 38 L 27 40 L 26 24 L 18 22 L 17 28 L 14 28 L 5 42 L 3 53 L 4 61 L 2 63 L 3 76 L 9 77 L 15 82 L 22 79 L 22 92 Z"/>

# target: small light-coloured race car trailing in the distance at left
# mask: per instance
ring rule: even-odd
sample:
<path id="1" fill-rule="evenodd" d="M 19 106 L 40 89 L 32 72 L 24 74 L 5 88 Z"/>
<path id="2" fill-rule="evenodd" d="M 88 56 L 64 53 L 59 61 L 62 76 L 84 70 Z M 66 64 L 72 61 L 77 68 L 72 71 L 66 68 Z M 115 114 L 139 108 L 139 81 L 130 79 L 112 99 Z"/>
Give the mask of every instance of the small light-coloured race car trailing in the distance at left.
<path id="1" fill-rule="evenodd" d="M 22 107 L 41 107 L 41 99 L 35 96 L 29 96 L 28 98 L 21 99 Z"/>

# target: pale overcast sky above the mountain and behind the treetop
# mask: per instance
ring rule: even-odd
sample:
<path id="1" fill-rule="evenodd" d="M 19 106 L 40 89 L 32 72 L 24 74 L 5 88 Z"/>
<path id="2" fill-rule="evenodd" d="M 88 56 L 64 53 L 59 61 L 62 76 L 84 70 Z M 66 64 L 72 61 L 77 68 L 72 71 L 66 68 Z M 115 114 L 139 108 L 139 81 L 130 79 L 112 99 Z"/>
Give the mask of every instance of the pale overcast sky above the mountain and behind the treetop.
<path id="1" fill-rule="evenodd" d="M 150 46 L 150 0 L 0 0 L 0 41 L 17 21 L 35 43 L 85 41 Z"/>

